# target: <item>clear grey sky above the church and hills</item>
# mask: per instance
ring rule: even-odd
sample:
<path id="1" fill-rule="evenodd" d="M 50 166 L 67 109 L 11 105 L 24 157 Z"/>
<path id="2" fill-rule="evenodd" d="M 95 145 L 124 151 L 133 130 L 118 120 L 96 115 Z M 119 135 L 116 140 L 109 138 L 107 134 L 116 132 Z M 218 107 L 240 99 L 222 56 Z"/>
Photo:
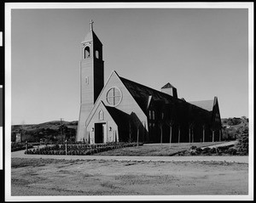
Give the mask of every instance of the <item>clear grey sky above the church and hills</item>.
<path id="1" fill-rule="evenodd" d="M 248 116 L 246 8 L 12 9 L 11 123 L 79 120 L 81 42 L 103 44 L 119 76 L 186 101 L 218 97 L 222 118 Z"/>

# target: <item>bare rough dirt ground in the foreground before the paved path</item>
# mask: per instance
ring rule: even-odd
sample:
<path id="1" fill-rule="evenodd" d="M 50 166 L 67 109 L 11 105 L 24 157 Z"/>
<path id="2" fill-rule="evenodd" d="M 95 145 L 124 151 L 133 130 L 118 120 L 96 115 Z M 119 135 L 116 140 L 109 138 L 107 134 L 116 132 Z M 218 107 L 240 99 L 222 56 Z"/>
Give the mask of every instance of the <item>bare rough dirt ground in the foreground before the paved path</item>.
<path id="1" fill-rule="evenodd" d="M 12 158 L 12 196 L 247 194 L 244 163 Z"/>

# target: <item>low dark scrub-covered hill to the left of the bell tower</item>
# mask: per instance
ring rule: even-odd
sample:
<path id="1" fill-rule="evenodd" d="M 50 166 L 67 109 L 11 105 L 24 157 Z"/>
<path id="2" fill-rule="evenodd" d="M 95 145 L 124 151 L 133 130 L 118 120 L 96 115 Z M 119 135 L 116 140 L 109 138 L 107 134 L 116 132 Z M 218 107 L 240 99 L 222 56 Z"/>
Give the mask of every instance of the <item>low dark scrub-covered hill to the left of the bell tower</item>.
<path id="1" fill-rule="evenodd" d="M 63 138 L 74 140 L 77 127 L 78 121 L 49 121 L 40 124 L 13 125 L 11 139 L 12 142 L 15 142 L 16 134 L 20 133 L 22 140 L 29 142 L 39 142 L 40 139 L 47 139 L 51 142 L 57 142 Z"/>

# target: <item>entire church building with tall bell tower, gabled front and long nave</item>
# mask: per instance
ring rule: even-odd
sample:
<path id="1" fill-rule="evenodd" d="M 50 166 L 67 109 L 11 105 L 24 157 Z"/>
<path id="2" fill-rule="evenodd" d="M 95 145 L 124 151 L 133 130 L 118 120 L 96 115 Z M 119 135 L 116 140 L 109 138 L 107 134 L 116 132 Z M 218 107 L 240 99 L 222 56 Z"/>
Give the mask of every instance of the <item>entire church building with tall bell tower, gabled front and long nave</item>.
<path id="1" fill-rule="evenodd" d="M 76 141 L 170 143 L 220 141 L 218 98 L 187 102 L 169 82 L 155 90 L 113 70 L 104 84 L 102 42 L 90 32 L 81 42 L 80 112 Z"/>

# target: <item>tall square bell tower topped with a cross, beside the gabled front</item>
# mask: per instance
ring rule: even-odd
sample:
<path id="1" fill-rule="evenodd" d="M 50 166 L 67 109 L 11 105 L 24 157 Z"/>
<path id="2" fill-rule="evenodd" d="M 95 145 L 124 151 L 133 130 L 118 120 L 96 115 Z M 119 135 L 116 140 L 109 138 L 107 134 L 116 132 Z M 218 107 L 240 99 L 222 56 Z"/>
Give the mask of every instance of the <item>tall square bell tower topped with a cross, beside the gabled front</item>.
<path id="1" fill-rule="evenodd" d="M 93 31 L 93 21 L 90 20 L 90 32 L 81 42 L 80 60 L 80 113 L 76 141 L 88 141 L 85 121 L 90 110 L 104 86 L 104 61 L 102 59 L 102 42 Z"/>

